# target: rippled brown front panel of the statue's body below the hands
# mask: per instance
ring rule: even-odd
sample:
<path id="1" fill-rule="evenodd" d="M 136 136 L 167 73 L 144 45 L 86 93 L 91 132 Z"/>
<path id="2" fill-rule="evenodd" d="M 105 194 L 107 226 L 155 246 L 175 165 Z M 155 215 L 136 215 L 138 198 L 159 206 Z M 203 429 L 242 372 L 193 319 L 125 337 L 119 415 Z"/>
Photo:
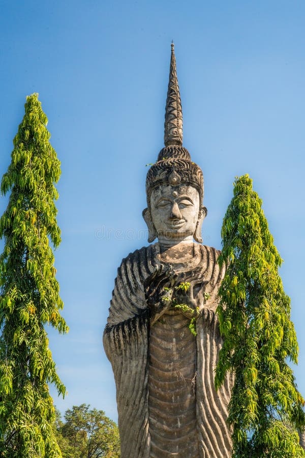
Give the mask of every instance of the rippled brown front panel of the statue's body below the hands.
<path id="1" fill-rule="evenodd" d="M 150 456 L 196 458 L 196 339 L 190 320 L 170 310 L 150 328 Z"/>

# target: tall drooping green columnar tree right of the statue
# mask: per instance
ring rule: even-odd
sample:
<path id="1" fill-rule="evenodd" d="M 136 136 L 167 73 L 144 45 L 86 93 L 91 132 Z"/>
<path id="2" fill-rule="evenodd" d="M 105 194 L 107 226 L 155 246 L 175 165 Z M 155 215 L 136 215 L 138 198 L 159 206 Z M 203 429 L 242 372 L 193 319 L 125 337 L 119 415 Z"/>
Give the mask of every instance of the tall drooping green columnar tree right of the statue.
<path id="1" fill-rule="evenodd" d="M 219 262 L 228 267 L 219 291 L 224 346 L 215 383 L 235 374 L 228 418 L 233 458 L 300 457 L 304 400 L 287 363 L 297 362 L 298 346 L 278 273 L 282 260 L 261 205 L 249 175 L 236 178 L 222 227 Z"/>

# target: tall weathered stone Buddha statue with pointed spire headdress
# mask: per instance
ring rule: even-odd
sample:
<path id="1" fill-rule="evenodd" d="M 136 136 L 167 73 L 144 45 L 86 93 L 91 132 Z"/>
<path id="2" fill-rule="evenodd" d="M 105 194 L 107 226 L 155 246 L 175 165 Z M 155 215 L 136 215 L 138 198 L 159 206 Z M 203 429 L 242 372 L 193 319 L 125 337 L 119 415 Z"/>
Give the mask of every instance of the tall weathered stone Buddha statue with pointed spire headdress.
<path id="1" fill-rule="evenodd" d="M 118 268 L 104 332 L 116 383 L 123 458 L 229 458 L 232 387 L 216 391 L 224 276 L 219 251 L 202 245 L 203 176 L 182 147 L 172 44 L 165 148 L 146 178 L 148 242 Z M 193 327 L 190 326 L 192 324 Z"/>

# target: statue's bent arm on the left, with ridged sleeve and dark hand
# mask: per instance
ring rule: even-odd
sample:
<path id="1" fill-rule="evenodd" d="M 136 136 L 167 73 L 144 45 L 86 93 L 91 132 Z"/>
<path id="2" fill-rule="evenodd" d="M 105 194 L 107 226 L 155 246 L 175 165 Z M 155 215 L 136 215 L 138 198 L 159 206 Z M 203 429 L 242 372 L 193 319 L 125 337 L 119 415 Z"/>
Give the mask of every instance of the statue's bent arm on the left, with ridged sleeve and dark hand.
<path id="1" fill-rule="evenodd" d="M 162 265 L 144 269 L 144 263 L 136 262 L 135 257 L 123 260 L 115 280 L 103 337 L 110 361 L 113 354 L 117 356 L 131 344 L 147 339 L 149 326 L 171 305 L 174 272 Z"/>

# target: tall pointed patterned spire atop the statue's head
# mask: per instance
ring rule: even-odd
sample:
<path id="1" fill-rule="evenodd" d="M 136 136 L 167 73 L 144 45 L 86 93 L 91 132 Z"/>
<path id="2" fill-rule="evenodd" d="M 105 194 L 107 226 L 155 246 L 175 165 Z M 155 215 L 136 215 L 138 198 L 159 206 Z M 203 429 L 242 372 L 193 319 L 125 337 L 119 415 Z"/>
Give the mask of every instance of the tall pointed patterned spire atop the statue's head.
<path id="1" fill-rule="evenodd" d="M 164 144 L 182 145 L 182 107 L 179 93 L 174 43 L 171 43 L 169 81 L 165 107 Z"/>

